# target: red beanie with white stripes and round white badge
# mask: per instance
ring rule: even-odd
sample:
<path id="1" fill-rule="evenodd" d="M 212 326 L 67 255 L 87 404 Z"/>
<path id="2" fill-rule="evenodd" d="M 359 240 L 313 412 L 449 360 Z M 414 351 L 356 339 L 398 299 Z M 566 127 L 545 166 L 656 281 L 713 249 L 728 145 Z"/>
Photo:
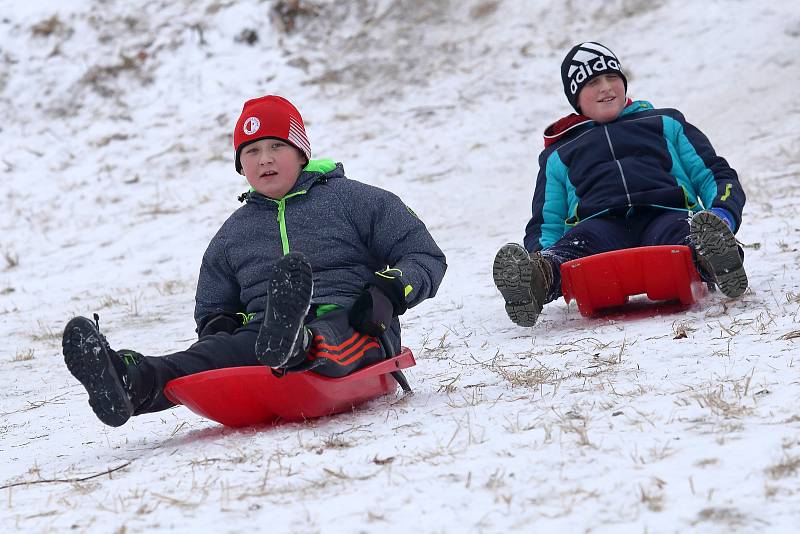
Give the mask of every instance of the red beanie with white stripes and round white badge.
<path id="1" fill-rule="evenodd" d="M 311 143 L 306 136 L 303 117 L 291 102 L 275 95 L 254 98 L 244 103 L 242 114 L 233 130 L 236 172 L 241 174 L 239 156 L 242 149 L 259 139 L 281 139 L 311 159 Z"/>

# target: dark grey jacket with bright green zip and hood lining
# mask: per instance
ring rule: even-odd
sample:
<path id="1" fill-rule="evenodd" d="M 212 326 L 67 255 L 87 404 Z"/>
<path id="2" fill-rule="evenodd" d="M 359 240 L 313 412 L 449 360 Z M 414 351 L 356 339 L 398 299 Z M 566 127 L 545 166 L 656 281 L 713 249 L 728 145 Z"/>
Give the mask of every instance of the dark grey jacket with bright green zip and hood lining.
<path id="1" fill-rule="evenodd" d="M 263 319 L 275 262 L 302 252 L 314 272 L 313 304 L 349 307 L 387 267 L 399 269 L 406 302 L 436 294 L 445 256 L 422 221 L 393 193 L 350 180 L 341 163 L 311 161 L 280 200 L 250 192 L 211 239 L 195 297 L 195 321 L 221 311 Z M 392 330 L 399 339 L 399 323 Z"/>

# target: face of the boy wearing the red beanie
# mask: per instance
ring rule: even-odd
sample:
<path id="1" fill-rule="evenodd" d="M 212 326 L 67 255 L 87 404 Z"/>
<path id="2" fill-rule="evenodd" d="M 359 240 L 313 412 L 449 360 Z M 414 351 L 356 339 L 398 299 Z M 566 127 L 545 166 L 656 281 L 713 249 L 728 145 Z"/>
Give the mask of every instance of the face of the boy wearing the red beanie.
<path id="1" fill-rule="evenodd" d="M 297 182 L 306 158 L 279 139 L 261 139 L 242 150 L 239 160 L 250 186 L 269 198 L 283 198 Z"/>

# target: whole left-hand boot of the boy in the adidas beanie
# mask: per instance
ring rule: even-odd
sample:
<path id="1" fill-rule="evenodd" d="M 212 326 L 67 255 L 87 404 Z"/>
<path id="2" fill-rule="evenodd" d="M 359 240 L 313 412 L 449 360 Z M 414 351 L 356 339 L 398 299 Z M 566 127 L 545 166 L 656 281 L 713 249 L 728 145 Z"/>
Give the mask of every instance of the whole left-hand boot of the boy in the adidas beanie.
<path id="1" fill-rule="evenodd" d="M 533 326 L 549 302 L 553 269 L 541 254 L 520 245 L 500 247 L 492 266 L 494 284 L 506 301 L 508 317 L 519 326 Z"/>

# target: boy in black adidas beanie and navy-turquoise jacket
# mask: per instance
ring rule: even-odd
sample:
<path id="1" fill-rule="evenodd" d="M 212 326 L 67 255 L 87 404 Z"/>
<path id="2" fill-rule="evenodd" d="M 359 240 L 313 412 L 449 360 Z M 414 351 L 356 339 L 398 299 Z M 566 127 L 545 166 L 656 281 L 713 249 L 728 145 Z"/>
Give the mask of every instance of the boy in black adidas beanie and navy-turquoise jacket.
<path id="1" fill-rule="evenodd" d="M 500 248 L 494 282 L 509 318 L 533 326 L 561 296 L 562 263 L 624 248 L 687 244 L 727 297 L 747 289 L 734 233 L 745 194 L 736 171 L 676 109 L 627 97 L 619 58 L 597 42 L 561 63 L 576 111 L 548 126 L 524 247 Z"/>

